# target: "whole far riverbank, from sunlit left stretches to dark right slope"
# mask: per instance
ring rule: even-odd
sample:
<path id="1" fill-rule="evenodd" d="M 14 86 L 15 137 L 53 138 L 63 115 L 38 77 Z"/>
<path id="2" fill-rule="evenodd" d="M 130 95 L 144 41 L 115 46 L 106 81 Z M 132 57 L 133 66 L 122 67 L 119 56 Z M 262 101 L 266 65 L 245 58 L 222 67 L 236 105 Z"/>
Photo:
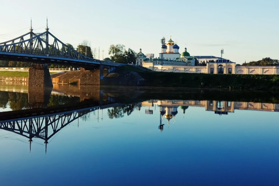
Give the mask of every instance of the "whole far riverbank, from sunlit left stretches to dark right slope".
<path id="1" fill-rule="evenodd" d="M 278 91 L 278 75 L 195 74 L 142 71 L 130 66 L 104 73 L 101 85 L 134 85 L 150 87 L 222 88 L 230 90 Z M 79 71 L 51 75 L 53 84 L 79 83 Z M 28 72 L 0 71 L 0 81 L 28 82 Z"/>

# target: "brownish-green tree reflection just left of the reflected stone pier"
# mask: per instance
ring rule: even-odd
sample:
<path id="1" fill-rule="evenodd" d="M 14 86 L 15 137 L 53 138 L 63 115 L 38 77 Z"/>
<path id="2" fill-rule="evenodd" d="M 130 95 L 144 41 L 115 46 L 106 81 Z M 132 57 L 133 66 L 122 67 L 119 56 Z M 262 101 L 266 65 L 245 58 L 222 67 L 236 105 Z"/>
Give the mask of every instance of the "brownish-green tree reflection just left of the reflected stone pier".
<path id="1" fill-rule="evenodd" d="M 29 108 L 28 94 L 21 92 L 9 92 L 9 105 L 12 110 Z"/>

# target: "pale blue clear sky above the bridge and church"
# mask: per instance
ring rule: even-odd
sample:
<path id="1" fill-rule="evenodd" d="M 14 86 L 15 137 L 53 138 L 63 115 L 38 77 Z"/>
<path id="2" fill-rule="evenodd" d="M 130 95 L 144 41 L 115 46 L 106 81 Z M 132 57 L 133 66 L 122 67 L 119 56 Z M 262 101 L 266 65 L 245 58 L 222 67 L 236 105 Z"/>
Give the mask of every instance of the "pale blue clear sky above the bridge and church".
<path id="1" fill-rule="evenodd" d="M 0 42 L 29 32 L 50 32 L 74 47 L 83 40 L 108 55 L 111 44 L 160 57 L 160 39 L 177 41 L 191 56 L 220 57 L 242 64 L 279 59 L 279 1 L 276 0 L 0 0 Z M 104 50 L 104 52 L 102 52 Z M 98 56 L 98 54 L 97 54 Z"/>

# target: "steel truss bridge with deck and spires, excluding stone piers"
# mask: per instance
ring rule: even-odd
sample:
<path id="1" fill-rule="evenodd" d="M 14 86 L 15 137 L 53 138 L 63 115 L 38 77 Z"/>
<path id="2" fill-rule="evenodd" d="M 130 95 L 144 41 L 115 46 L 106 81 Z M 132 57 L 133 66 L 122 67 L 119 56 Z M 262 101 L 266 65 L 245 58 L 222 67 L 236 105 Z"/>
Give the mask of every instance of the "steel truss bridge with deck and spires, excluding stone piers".
<path id="1" fill-rule="evenodd" d="M 124 64 L 89 58 L 67 46 L 49 32 L 34 33 L 32 22 L 30 32 L 15 39 L 0 43 L 0 60 L 54 63 L 79 67 L 98 65 L 118 67 Z"/>

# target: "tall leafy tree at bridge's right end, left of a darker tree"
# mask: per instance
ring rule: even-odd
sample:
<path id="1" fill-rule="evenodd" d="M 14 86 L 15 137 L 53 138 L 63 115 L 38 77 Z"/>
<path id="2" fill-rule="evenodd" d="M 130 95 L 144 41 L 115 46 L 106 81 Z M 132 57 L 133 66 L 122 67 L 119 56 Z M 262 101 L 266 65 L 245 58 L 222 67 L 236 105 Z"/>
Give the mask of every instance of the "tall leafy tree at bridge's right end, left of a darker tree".
<path id="1" fill-rule="evenodd" d="M 111 61 L 118 62 L 118 63 L 124 63 L 125 62 L 125 45 L 123 44 L 117 44 L 117 45 L 110 45 L 110 48 L 108 49 L 108 54 L 112 55 L 110 56 Z"/>

